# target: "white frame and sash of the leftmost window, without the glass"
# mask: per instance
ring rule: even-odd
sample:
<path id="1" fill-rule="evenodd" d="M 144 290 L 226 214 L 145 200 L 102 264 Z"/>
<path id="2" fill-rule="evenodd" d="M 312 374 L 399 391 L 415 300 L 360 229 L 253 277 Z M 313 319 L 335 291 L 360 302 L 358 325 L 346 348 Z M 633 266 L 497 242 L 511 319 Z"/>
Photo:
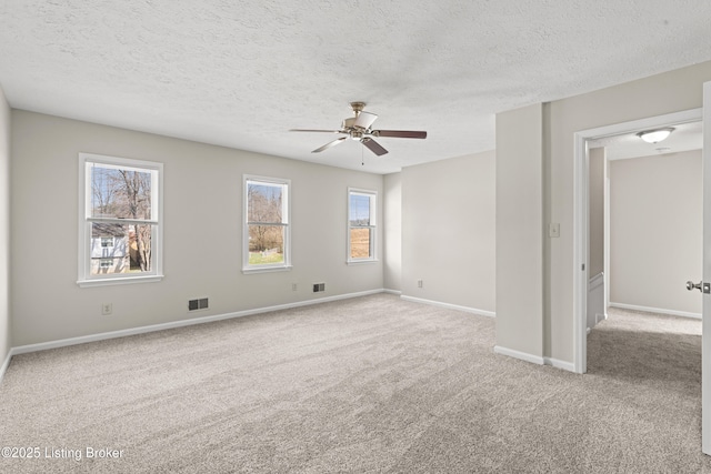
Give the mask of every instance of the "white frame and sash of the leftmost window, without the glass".
<path id="1" fill-rule="evenodd" d="M 151 271 L 136 273 L 91 274 L 91 226 L 94 222 L 130 223 L 130 220 L 91 216 L 91 163 L 137 169 L 151 172 L 151 219 L 142 220 L 151 225 Z M 152 283 L 163 279 L 163 163 L 129 158 L 107 157 L 96 153 L 79 153 L 79 233 L 78 280 L 81 288 L 131 283 Z M 116 240 L 114 240 L 116 245 Z"/>

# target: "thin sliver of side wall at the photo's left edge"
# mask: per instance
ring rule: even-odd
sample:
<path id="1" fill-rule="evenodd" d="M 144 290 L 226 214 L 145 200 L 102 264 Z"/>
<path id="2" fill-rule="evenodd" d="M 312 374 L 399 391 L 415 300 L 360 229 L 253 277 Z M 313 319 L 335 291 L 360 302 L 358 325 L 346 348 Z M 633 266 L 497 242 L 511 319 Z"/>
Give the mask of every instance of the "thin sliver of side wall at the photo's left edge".
<path id="1" fill-rule="evenodd" d="M 10 347 L 10 107 L 0 88 L 0 377 Z"/>

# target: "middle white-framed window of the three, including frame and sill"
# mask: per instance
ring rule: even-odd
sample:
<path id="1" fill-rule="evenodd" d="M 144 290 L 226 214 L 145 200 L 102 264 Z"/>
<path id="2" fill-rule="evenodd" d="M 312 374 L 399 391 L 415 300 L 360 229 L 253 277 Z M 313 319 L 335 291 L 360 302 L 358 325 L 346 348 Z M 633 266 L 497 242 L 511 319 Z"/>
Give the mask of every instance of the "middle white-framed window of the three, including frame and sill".
<path id="1" fill-rule="evenodd" d="M 288 270 L 289 180 L 244 177 L 244 273 Z"/>

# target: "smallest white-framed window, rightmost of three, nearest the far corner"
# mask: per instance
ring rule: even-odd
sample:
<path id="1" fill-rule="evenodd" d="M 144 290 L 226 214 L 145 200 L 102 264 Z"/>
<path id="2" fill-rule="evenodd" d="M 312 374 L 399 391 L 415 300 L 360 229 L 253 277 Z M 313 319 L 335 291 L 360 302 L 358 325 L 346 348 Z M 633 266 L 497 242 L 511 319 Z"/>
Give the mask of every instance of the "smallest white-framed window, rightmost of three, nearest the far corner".
<path id="1" fill-rule="evenodd" d="M 375 191 L 348 190 L 348 262 L 374 262 Z"/>

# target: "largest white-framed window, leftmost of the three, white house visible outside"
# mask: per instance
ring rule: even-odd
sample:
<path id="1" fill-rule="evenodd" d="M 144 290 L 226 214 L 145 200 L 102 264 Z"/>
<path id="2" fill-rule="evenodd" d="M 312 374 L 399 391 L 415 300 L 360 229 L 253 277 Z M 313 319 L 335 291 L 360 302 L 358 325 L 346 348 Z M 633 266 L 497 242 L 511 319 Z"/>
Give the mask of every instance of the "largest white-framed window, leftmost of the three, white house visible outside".
<path id="1" fill-rule="evenodd" d="M 80 286 L 162 279 L 162 167 L 79 154 Z"/>

